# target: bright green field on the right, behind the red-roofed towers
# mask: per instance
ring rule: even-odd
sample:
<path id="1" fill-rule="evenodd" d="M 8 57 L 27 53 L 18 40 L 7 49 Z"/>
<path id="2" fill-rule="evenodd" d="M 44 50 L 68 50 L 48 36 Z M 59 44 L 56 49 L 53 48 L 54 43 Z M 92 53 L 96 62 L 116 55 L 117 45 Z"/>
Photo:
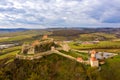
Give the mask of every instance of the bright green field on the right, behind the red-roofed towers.
<path id="1" fill-rule="evenodd" d="M 96 49 L 98 51 L 111 50 L 110 52 L 118 53 L 120 49 L 120 41 L 101 41 L 97 44 L 78 44 L 76 42 L 71 42 L 69 43 L 69 46 L 73 49 L 79 49 L 79 50 L 90 50 L 90 49 Z"/>

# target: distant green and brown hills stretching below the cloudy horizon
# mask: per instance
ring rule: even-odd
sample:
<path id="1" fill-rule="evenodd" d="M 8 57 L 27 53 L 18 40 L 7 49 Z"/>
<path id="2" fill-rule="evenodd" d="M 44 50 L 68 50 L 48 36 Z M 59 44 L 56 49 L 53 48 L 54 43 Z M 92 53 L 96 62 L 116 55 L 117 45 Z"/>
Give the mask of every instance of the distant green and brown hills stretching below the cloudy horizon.
<path id="1" fill-rule="evenodd" d="M 56 40 L 116 40 L 119 39 L 119 29 L 33 29 L 0 35 L 0 42 L 30 41 L 39 39 L 41 35 L 48 34 Z"/>

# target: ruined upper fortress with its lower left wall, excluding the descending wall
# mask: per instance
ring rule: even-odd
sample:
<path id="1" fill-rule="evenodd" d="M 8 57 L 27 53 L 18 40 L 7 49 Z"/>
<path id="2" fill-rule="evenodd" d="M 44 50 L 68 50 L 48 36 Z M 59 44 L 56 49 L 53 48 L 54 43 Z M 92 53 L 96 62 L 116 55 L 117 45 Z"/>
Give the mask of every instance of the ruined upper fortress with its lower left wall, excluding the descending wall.
<path id="1" fill-rule="evenodd" d="M 19 59 L 37 59 L 41 56 L 52 54 L 55 50 L 69 51 L 70 48 L 66 42 L 55 41 L 44 35 L 41 40 L 35 40 L 32 43 L 24 43 L 21 52 L 16 56 Z"/>

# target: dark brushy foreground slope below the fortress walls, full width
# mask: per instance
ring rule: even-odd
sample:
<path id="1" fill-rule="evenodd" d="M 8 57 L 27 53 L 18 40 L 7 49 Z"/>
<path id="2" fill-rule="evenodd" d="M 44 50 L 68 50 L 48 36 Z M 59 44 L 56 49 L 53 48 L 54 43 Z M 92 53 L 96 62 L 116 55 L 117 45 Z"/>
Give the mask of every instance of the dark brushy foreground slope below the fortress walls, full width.
<path id="1" fill-rule="evenodd" d="M 38 60 L 0 60 L 0 80 L 119 80 L 120 56 L 107 59 L 101 71 L 57 54 Z"/>

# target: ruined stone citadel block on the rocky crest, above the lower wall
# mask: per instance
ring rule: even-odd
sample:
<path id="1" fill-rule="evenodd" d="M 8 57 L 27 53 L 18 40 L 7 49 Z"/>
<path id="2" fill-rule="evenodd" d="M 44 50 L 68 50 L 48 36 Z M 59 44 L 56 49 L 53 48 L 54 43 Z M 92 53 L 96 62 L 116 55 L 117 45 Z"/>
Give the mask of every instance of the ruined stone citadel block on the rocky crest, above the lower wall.
<path id="1" fill-rule="evenodd" d="M 35 40 L 32 43 L 24 43 L 22 45 L 21 54 L 37 54 L 50 50 L 51 47 L 57 47 L 52 38 L 48 38 L 47 35 L 43 36 L 41 40 Z"/>

